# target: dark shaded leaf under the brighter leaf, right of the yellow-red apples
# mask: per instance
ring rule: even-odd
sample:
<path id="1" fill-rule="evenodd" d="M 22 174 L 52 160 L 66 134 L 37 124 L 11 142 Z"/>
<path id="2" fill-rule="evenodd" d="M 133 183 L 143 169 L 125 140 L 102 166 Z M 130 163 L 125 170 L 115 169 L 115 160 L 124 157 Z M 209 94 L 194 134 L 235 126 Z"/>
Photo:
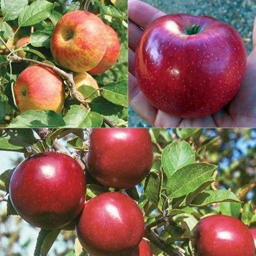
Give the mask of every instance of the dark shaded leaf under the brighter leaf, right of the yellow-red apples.
<path id="1" fill-rule="evenodd" d="M 119 113 L 123 107 L 117 104 L 113 104 L 108 100 L 104 99 L 102 96 L 94 98 L 92 102 L 89 103 L 92 111 L 100 113 L 105 116 L 116 115 Z"/>

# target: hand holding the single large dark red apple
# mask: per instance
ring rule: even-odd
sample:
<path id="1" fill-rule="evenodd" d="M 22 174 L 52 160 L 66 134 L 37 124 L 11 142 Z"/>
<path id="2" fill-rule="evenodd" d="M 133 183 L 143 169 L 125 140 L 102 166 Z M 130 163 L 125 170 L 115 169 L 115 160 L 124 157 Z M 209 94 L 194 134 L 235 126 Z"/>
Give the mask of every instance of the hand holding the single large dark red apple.
<path id="1" fill-rule="evenodd" d="M 129 0 L 129 103 L 154 127 L 255 127 L 256 125 L 256 19 L 253 30 L 253 51 L 247 59 L 243 84 L 225 108 L 202 119 L 181 119 L 158 110 L 143 95 L 135 78 L 135 48 L 148 23 L 164 12 L 139 0 Z M 143 10 L 143 11 L 142 11 Z"/>

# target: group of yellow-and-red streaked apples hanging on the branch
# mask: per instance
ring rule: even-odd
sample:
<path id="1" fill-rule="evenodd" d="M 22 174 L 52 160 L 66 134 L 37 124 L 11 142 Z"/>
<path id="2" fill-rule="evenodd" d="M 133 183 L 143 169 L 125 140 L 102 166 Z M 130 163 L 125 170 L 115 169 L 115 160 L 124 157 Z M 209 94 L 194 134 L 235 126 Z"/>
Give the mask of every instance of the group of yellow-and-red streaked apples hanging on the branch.
<path id="1" fill-rule="evenodd" d="M 30 36 L 21 38 L 16 49 L 29 41 Z M 70 11 L 63 15 L 53 30 L 53 58 L 61 67 L 75 72 L 73 79 L 77 89 L 86 85 L 97 90 L 98 84 L 90 74 L 110 69 L 117 61 L 119 51 L 115 30 L 88 11 Z M 18 55 L 26 57 L 24 51 L 18 51 Z M 13 86 L 13 92 L 21 113 L 32 109 L 54 110 L 56 113 L 63 110 L 65 90 L 61 77 L 42 65 L 24 69 Z"/>

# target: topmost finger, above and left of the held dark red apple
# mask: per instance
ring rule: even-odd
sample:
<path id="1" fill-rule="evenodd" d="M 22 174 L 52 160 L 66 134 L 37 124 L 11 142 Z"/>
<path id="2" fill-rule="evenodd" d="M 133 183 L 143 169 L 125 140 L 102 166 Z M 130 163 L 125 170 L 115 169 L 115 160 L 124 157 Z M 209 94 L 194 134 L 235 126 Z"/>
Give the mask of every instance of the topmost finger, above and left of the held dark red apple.
<path id="1" fill-rule="evenodd" d="M 141 28 L 145 28 L 152 20 L 156 20 L 156 18 L 165 15 L 165 13 L 159 11 L 152 5 L 139 0 L 129 0 L 128 9 L 129 20 Z"/>

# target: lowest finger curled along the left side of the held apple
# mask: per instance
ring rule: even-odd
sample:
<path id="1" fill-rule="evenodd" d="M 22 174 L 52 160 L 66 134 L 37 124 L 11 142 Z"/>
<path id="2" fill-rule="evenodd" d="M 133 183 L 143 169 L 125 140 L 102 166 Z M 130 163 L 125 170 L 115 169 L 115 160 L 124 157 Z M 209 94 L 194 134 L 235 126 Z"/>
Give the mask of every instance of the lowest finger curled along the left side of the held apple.
<path id="1" fill-rule="evenodd" d="M 137 115 L 154 125 L 157 110 L 139 90 L 137 80 L 131 73 L 129 73 L 129 103 Z"/>

